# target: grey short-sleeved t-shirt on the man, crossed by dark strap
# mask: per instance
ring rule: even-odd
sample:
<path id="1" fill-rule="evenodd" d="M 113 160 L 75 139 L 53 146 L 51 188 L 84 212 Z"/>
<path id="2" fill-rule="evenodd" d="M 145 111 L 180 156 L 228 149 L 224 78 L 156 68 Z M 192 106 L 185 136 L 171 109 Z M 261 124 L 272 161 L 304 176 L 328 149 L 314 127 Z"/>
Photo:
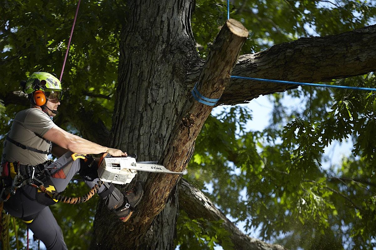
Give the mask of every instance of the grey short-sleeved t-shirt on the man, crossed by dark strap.
<path id="1" fill-rule="evenodd" d="M 51 118 L 37 108 L 29 108 L 17 113 L 8 136 L 16 142 L 41 151 L 48 151 L 50 141 L 42 136 L 57 126 Z M 2 162 L 20 162 L 22 165 L 38 165 L 48 159 L 47 154 L 22 149 L 5 140 Z"/>

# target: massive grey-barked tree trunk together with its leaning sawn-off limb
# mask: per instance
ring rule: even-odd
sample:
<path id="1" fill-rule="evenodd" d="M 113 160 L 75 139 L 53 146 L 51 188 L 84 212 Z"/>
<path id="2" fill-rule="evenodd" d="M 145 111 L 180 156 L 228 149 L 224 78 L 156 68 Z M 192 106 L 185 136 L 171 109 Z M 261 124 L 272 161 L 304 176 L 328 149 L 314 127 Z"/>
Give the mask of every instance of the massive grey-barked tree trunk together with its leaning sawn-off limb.
<path id="1" fill-rule="evenodd" d="M 110 145 L 138 154 L 138 160 L 157 160 L 171 171 L 185 169 L 213 107 L 197 102 L 190 91 L 193 84 L 186 82 L 192 62 L 199 61 L 190 29 L 192 4 L 130 2 L 131 18 L 121 34 Z M 199 78 L 201 94 L 222 95 L 247 36 L 240 22 L 226 22 Z M 139 178 L 145 181 L 144 198 L 129 222 L 120 223 L 114 216 L 108 222 L 109 213 L 100 204 L 94 249 L 174 249 L 177 192 L 173 190 L 180 176 L 140 174 Z M 100 230 L 103 224 L 111 224 L 113 231 Z"/>

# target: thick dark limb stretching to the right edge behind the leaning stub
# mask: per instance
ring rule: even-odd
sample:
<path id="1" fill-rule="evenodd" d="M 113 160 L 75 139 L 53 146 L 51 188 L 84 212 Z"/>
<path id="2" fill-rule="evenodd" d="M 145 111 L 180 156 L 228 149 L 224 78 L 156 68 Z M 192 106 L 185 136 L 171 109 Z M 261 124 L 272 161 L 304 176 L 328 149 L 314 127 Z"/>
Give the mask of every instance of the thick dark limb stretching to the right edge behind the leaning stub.
<path id="1" fill-rule="evenodd" d="M 189 81 L 195 81 L 196 66 Z M 239 57 L 232 75 L 297 82 L 321 82 L 363 75 L 376 69 L 376 25 L 338 35 L 300 38 Z M 218 105 L 245 103 L 297 85 L 230 79 Z"/>

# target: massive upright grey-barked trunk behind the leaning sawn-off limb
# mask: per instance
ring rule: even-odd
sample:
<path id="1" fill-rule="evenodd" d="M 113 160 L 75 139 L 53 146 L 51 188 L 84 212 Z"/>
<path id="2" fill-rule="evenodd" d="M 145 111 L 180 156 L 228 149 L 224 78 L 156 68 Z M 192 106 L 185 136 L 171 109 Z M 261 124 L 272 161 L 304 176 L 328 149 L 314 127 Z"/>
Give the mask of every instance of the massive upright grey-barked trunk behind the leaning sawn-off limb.
<path id="1" fill-rule="evenodd" d="M 138 161 L 161 160 L 190 93 L 186 74 L 200 60 L 190 28 L 193 4 L 190 0 L 147 0 L 129 1 L 127 5 L 128 22 L 121 32 L 110 145 L 136 153 Z M 157 175 L 140 174 L 138 178 L 146 181 L 145 190 L 171 184 L 146 180 Z M 177 180 L 174 176 L 168 181 Z M 142 217 L 133 213 L 127 223 L 121 223 L 100 204 L 91 249 L 174 249 L 177 193 L 154 190 L 152 200 L 144 198 L 138 207 L 146 207 L 149 202 L 155 203 L 155 207 L 144 211 Z M 159 202 L 165 195 L 169 195 L 167 204 Z M 148 214 L 161 210 L 154 221 L 150 220 Z M 101 230 L 103 225 L 112 230 Z"/>

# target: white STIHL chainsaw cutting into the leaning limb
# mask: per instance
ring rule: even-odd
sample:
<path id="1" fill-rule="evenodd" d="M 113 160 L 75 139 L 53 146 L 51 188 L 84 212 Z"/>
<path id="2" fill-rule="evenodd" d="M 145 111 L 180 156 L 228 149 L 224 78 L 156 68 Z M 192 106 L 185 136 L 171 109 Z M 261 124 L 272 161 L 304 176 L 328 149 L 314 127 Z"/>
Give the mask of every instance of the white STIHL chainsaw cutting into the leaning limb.
<path id="1" fill-rule="evenodd" d="M 138 171 L 165 173 L 165 174 L 187 174 L 187 170 L 173 172 L 166 169 L 157 162 L 136 162 L 133 157 L 108 157 L 102 160 L 98 168 L 99 180 L 115 184 L 127 184 L 138 174 Z"/>

